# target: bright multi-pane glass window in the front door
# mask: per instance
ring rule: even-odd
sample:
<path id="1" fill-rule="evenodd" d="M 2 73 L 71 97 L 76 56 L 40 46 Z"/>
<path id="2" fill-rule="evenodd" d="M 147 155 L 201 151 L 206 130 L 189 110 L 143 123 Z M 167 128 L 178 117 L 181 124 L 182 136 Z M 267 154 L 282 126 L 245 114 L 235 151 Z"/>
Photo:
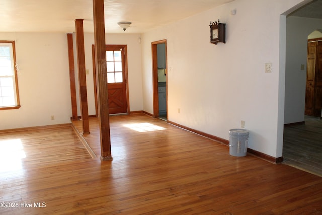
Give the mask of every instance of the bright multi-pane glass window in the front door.
<path id="1" fill-rule="evenodd" d="M 123 82 L 121 51 L 106 51 L 107 83 Z"/>

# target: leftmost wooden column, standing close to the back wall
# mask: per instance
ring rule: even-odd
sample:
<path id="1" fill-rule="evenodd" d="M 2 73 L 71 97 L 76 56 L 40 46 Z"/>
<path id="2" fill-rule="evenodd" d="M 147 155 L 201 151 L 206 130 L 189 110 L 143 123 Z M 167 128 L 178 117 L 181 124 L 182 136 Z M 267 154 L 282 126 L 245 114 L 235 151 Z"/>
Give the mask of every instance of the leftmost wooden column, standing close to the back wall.
<path id="1" fill-rule="evenodd" d="M 69 61 L 69 80 L 70 80 L 72 120 L 78 120 L 76 83 L 75 83 L 74 47 L 73 47 L 73 41 L 72 41 L 72 34 L 67 34 L 67 42 L 68 42 L 68 61 Z"/>

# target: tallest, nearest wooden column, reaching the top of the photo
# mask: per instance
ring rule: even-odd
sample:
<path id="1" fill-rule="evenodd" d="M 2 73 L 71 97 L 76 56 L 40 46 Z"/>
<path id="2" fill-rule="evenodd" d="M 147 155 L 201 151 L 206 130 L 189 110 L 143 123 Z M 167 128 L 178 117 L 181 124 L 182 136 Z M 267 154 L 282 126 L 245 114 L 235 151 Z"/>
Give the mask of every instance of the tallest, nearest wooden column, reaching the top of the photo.
<path id="1" fill-rule="evenodd" d="M 107 93 L 104 0 L 93 0 L 94 41 L 98 112 L 101 139 L 101 160 L 112 160 Z"/>

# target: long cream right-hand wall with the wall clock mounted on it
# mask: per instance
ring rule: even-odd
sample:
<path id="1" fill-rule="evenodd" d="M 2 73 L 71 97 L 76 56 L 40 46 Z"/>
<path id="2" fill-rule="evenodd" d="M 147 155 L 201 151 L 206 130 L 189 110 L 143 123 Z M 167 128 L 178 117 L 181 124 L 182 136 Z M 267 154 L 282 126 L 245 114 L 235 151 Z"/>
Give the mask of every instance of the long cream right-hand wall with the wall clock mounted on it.
<path id="1" fill-rule="evenodd" d="M 227 140 L 244 120 L 249 148 L 282 156 L 280 15 L 300 2 L 236 0 L 144 33 L 144 110 L 153 112 L 151 42 L 167 39 L 168 119 Z M 226 23 L 226 44 L 209 44 L 209 23 L 218 18 Z M 265 73 L 268 62 L 272 73 Z"/>

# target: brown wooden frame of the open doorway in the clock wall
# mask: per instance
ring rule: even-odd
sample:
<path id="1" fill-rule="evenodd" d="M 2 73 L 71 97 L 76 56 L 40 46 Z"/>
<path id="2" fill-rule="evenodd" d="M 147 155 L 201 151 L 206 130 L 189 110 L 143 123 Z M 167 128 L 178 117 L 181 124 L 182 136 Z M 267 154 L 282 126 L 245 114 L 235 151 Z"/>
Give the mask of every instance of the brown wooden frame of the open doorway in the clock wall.
<path id="1" fill-rule="evenodd" d="M 158 118 L 159 115 L 159 90 L 158 90 L 158 78 L 157 78 L 157 45 L 165 43 L 166 54 L 166 71 L 167 71 L 167 40 L 159 40 L 152 42 L 152 73 L 153 73 L 153 117 Z M 167 74 L 167 73 L 166 73 Z M 168 121 L 168 76 L 166 76 L 166 111 Z"/>

